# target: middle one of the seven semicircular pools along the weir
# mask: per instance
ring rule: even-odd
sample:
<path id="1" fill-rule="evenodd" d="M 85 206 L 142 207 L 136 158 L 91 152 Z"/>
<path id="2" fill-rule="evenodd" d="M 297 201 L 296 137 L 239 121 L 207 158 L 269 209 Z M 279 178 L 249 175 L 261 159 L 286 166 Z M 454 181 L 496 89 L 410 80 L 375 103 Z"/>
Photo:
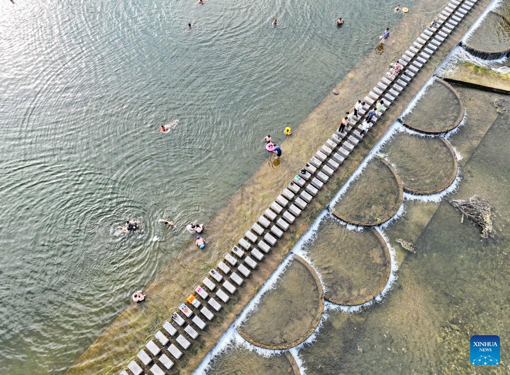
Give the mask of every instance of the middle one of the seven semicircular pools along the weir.
<path id="1" fill-rule="evenodd" d="M 374 158 L 330 211 L 348 223 L 373 227 L 397 213 L 402 196 L 402 183 L 395 168 L 384 159 Z"/>

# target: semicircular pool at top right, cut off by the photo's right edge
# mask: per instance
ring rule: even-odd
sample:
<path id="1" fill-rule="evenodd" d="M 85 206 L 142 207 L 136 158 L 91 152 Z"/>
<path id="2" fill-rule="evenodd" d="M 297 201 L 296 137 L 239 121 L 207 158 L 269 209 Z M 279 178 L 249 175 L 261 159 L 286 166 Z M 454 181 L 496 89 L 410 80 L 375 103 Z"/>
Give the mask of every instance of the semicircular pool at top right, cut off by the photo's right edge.
<path id="1" fill-rule="evenodd" d="M 498 59 L 510 52 L 510 20 L 491 11 L 464 43 L 468 52 L 482 59 Z"/>

